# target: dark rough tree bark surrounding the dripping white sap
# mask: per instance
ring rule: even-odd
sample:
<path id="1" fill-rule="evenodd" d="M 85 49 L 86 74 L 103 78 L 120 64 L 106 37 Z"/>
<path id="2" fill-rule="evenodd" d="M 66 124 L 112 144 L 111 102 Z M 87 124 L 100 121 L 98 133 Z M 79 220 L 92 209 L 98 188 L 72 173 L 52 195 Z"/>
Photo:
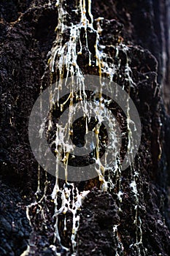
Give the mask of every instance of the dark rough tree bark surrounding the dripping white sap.
<path id="1" fill-rule="evenodd" d="M 72 22 L 76 19 L 72 12 L 75 3 L 67 0 L 66 4 Z M 53 246 L 50 246 L 53 244 L 54 232 L 54 205 L 50 197 L 50 185 L 55 183 L 55 178 L 48 175 L 50 185 L 47 187 L 46 204 L 50 212 L 45 211 L 47 228 L 43 226 L 43 219 L 36 217 L 36 206 L 31 207 L 32 227 L 29 225 L 26 206 L 34 202 L 37 187 L 37 163 L 28 142 L 28 118 L 39 96 L 41 84 L 45 89 L 50 81 L 47 53 L 56 37 L 58 7 L 55 7 L 55 1 L 2 0 L 0 13 L 0 255 L 21 255 L 27 248 L 28 240 L 31 247 L 28 255 L 56 255 Z M 101 42 L 106 46 L 105 52 L 111 61 L 115 58 L 115 45 L 123 42 L 128 46 L 131 77 L 136 84 L 131 89 L 131 98 L 142 122 L 142 141 L 134 162 L 139 172 L 136 183 L 139 194 L 138 214 L 142 225 L 139 225 L 139 219 L 137 225 L 134 223 L 135 197 L 129 187 L 130 167 L 122 172 L 121 211 L 115 192 L 101 192 L 97 178 L 80 182 L 76 184 L 77 187 L 90 189 L 90 193 L 80 213 L 77 255 L 168 256 L 170 2 L 93 0 L 92 13 L 94 27 L 97 26 L 95 19 L 104 18 Z M 66 31 L 66 38 L 68 33 Z M 93 55 L 93 33 L 89 35 L 88 43 Z M 82 56 L 77 61 L 83 73 L 97 75 L 96 67 L 88 66 L 85 45 L 82 45 L 82 49 Z M 127 56 L 120 50 L 117 58 L 121 64 L 114 80 L 123 85 Z M 43 171 L 41 181 L 43 188 Z M 62 184 L 63 181 L 60 182 Z M 59 220 L 61 231 L 62 217 Z M 117 231 L 113 231 L 117 223 Z M 61 250 L 61 255 L 72 255 L 69 242 L 71 233 L 72 226 L 68 222 L 66 233 L 61 232 L 61 241 L 63 246 L 70 247 L 70 252 Z M 136 244 L 136 233 L 142 243 Z"/>

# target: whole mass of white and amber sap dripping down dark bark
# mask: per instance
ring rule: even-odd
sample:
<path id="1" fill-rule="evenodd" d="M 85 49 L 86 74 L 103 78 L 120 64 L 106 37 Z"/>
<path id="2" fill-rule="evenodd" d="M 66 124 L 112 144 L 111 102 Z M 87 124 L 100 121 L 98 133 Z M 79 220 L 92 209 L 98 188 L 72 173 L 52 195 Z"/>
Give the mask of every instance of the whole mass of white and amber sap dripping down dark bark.
<path id="1" fill-rule="evenodd" d="M 49 59 L 49 65 L 50 65 L 50 72 L 58 72 L 59 71 L 59 83 L 56 83 L 56 91 L 58 91 L 58 99 L 60 99 L 60 89 L 62 88 L 62 80 L 63 80 L 63 75 L 64 75 L 64 70 L 66 70 L 65 77 L 68 78 L 69 76 L 74 77 L 74 75 L 77 75 L 77 84 L 79 85 L 80 91 L 83 91 L 83 94 L 85 96 L 85 86 L 84 86 L 84 77 L 82 75 L 82 71 L 77 64 L 77 55 L 82 54 L 82 42 L 80 39 L 80 32 L 82 29 L 85 31 L 85 39 L 86 39 L 86 48 L 88 49 L 88 29 L 93 31 L 96 34 L 96 43 L 95 43 L 95 50 L 96 50 L 96 67 L 98 67 L 98 75 L 101 77 L 103 74 L 107 74 L 108 78 L 110 81 L 113 80 L 113 75 L 117 70 L 119 69 L 119 64 L 118 66 L 115 64 L 110 64 L 107 62 L 107 54 L 104 53 L 104 45 L 100 45 L 99 40 L 100 40 L 100 34 L 101 34 L 101 26 L 100 26 L 100 21 L 103 20 L 103 18 L 98 18 L 96 20 L 97 22 L 97 31 L 93 29 L 93 15 L 91 14 L 91 0 L 88 0 L 88 8 L 85 6 L 85 0 L 80 0 L 79 5 L 77 6 L 77 9 L 74 10 L 74 12 L 80 12 L 81 18 L 80 18 L 80 23 L 77 24 L 71 24 L 70 26 L 66 25 L 66 15 L 67 12 L 63 6 L 64 0 L 58 0 L 56 1 L 56 7 L 58 7 L 58 26 L 56 28 L 57 36 L 53 45 L 53 48 L 50 51 L 50 59 Z M 86 16 L 86 12 L 88 10 L 88 15 L 90 17 L 90 20 L 88 20 Z M 69 40 L 67 42 L 63 43 L 63 35 L 66 33 L 66 29 L 69 30 Z M 80 45 L 80 50 L 77 52 L 77 44 Z M 120 43 L 120 45 L 116 46 L 116 55 L 115 57 L 118 57 L 119 55 L 119 50 L 123 50 L 127 57 L 127 63 L 125 66 L 125 80 L 128 81 L 129 84 L 129 89 L 131 86 L 135 86 L 134 81 L 131 78 L 131 68 L 128 65 L 128 47 L 126 45 L 123 45 L 123 43 Z M 91 53 L 90 50 L 88 50 L 89 54 L 89 66 L 91 66 Z M 74 94 L 74 83 L 72 83 L 72 86 L 70 88 L 70 94 L 68 99 L 66 99 L 66 102 L 70 100 L 70 105 L 69 105 L 69 119 L 68 119 L 68 124 L 66 124 L 66 127 L 71 127 L 72 124 L 72 117 L 74 116 L 75 113 L 75 108 L 73 108 L 73 94 Z M 102 93 L 102 91 L 100 91 Z M 105 180 L 104 178 L 104 173 L 105 173 L 105 167 L 101 165 L 100 159 L 99 159 L 99 129 L 103 120 L 103 114 L 104 111 L 107 111 L 106 108 L 103 108 L 101 104 L 101 97 L 100 99 L 100 107 L 102 109 L 102 114 L 98 113 L 98 121 L 99 124 L 96 125 L 95 129 L 95 134 L 96 134 L 96 173 L 98 173 L 99 181 L 101 181 L 101 189 L 103 191 L 109 191 L 111 192 L 113 189 L 115 189 L 115 193 L 117 193 L 117 199 L 120 202 L 120 208 L 119 210 L 121 211 L 121 203 L 122 203 L 122 196 L 123 196 L 123 191 L 121 189 L 121 169 L 119 165 L 120 159 L 117 159 L 116 162 L 114 162 L 114 170 L 110 168 L 108 172 L 108 181 Z M 66 102 L 63 103 L 63 105 L 66 104 Z M 50 107 L 53 108 L 54 105 L 54 95 L 53 91 L 51 91 L 50 95 Z M 82 100 L 81 94 L 80 94 L 80 103 L 82 105 L 82 110 L 83 113 L 85 113 L 86 117 L 90 118 L 90 113 L 88 112 L 88 102 L 84 99 Z M 61 111 L 63 109 L 63 105 L 61 105 Z M 127 102 L 128 105 L 128 102 Z M 107 116 L 107 113 L 105 113 L 105 116 Z M 127 127 L 128 127 L 128 152 L 131 154 L 132 148 L 130 148 L 131 145 L 131 129 L 129 125 L 129 116 L 128 116 L 128 110 L 127 110 Z M 114 137 L 114 124 L 110 122 L 108 118 L 108 123 L 109 126 L 111 127 L 109 130 L 109 134 Z M 52 128 L 52 116 L 50 116 L 49 124 L 48 124 L 48 131 Z M 80 192 L 75 185 L 69 184 L 67 181 L 67 164 L 68 164 L 68 159 L 69 159 L 69 153 L 72 151 L 72 146 L 70 146 L 68 143 L 65 143 L 66 137 L 72 134 L 72 129 L 69 129 L 69 134 L 65 134 L 64 132 L 66 131 L 66 127 L 61 127 L 60 125 L 56 124 L 57 126 L 57 131 L 56 131 L 56 138 L 55 138 L 55 153 L 56 153 L 56 177 L 58 177 L 58 166 L 59 162 L 61 161 L 61 146 L 63 146 L 62 150 L 64 153 L 64 158 L 62 161 L 65 163 L 65 178 L 66 182 L 63 184 L 63 187 L 59 187 L 58 184 L 58 178 L 56 178 L 55 181 L 55 187 L 53 188 L 53 193 L 52 193 L 52 198 L 55 204 L 55 213 L 54 213 L 54 218 L 55 218 L 55 232 L 54 232 L 54 241 L 53 244 L 50 246 L 50 248 L 55 251 L 56 255 L 61 255 L 61 253 L 58 252 L 57 247 L 55 246 L 55 242 L 58 241 L 59 244 L 63 249 L 66 251 L 69 251 L 68 248 L 63 246 L 61 244 L 61 236 L 58 230 L 58 216 L 60 214 L 64 214 L 64 222 L 63 222 L 63 232 L 66 232 L 67 230 L 67 218 L 66 214 L 68 212 L 72 213 L 72 236 L 71 236 L 71 242 L 72 242 L 72 255 L 76 255 L 77 253 L 77 243 L 76 243 L 76 237 L 77 237 L 77 230 L 80 225 L 80 208 L 82 206 L 82 201 L 84 200 L 85 196 L 88 195 L 88 191 L 83 191 Z M 41 129 L 39 131 L 41 134 Z M 88 126 L 86 125 L 86 133 L 88 133 Z M 115 145 L 112 145 L 112 148 L 115 148 Z M 117 155 L 117 158 L 119 156 Z M 106 158 L 107 161 L 107 158 Z M 132 167 L 132 173 L 133 173 L 133 167 Z M 135 206 L 135 211 L 136 211 L 136 216 L 134 219 L 134 224 L 136 225 L 136 244 L 133 244 L 131 246 L 136 246 L 139 248 L 139 244 L 142 244 L 142 228 L 141 228 L 141 220 L 139 218 L 138 214 L 138 203 L 139 203 L 139 198 L 138 198 L 138 192 L 137 192 L 137 186 L 136 186 L 136 175 L 138 173 L 134 172 L 134 175 L 132 174 L 132 181 L 130 184 L 132 192 L 134 192 L 134 197 L 136 200 L 136 206 Z M 116 180 L 118 186 L 115 186 L 115 183 L 112 181 Z M 40 169 L 38 170 L 38 188 L 36 194 L 40 192 Z M 38 200 L 35 203 L 32 203 L 30 206 L 27 208 L 27 217 L 31 223 L 31 219 L 29 217 L 29 208 L 32 206 L 39 205 L 41 206 L 42 200 L 45 200 L 46 198 L 46 191 L 47 191 L 47 180 L 45 184 L 45 192 L 43 197 Z M 61 206 L 58 205 L 58 198 L 61 198 Z M 72 200 L 71 200 L 72 198 Z M 43 211 L 41 208 L 41 214 L 42 214 L 42 219 L 45 219 L 45 216 L 43 215 Z M 123 255 L 123 244 L 120 241 L 120 236 L 118 234 L 118 227 L 119 223 L 113 227 L 113 234 L 115 238 L 117 239 L 117 252 L 116 255 Z M 139 230 L 139 231 L 138 231 Z M 138 249 L 139 255 L 140 255 L 140 249 Z"/>

